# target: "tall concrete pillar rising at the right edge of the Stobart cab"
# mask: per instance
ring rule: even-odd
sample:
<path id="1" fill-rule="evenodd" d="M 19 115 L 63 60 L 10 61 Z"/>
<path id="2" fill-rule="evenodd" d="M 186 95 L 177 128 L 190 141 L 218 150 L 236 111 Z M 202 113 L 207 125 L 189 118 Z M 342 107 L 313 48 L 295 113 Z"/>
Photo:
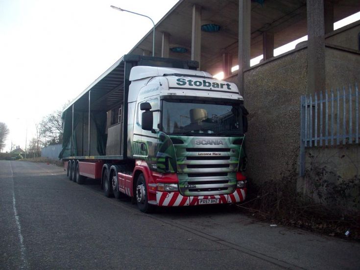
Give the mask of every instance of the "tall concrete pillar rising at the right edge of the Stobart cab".
<path id="1" fill-rule="evenodd" d="M 239 0 L 239 91 L 244 96 L 244 70 L 250 67 L 251 0 Z"/>

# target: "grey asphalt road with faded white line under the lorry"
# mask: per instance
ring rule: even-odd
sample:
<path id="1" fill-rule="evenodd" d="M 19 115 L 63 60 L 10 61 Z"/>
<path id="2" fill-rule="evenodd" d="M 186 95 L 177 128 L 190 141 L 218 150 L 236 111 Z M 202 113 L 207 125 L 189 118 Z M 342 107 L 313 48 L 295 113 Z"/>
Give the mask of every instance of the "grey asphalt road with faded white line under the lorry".
<path id="1" fill-rule="evenodd" d="M 360 269 L 360 243 L 226 207 L 141 213 L 62 168 L 0 161 L 0 269 Z"/>

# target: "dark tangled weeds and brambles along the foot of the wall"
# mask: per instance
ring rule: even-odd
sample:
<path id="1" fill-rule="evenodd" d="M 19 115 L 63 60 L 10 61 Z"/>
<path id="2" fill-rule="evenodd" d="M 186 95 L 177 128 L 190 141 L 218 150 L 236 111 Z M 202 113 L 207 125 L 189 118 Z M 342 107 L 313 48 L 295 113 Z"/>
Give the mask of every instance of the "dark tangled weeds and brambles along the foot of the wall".
<path id="1" fill-rule="evenodd" d="M 251 184 L 250 179 L 248 198 L 239 207 L 266 221 L 329 235 L 345 236 L 348 232 L 347 237 L 360 240 L 359 175 L 345 179 L 336 173 L 340 170 L 326 167 L 329 160 L 323 160 L 328 164 L 324 167 L 316 162 L 316 156 L 308 158 L 304 179 L 298 179 L 296 154 L 280 178 L 261 186 Z"/>

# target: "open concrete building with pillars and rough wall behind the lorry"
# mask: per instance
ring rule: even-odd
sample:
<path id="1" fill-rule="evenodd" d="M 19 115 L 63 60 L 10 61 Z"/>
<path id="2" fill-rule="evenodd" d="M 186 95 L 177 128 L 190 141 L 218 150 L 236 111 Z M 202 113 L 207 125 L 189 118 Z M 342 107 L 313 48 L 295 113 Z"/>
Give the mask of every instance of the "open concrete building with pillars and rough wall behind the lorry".
<path id="1" fill-rule="evenodd" d="M 333 26 L 359 11 L 359 0 L 180 0 L 156 25 L 155 56 L 197 60 L 238 84 L 250 112 L 247 175 L 261 184 L 298 170 L 301 95 L 360 82 L 360 21 Z M 152 30 L 130 53 L 151 50 Z"/>

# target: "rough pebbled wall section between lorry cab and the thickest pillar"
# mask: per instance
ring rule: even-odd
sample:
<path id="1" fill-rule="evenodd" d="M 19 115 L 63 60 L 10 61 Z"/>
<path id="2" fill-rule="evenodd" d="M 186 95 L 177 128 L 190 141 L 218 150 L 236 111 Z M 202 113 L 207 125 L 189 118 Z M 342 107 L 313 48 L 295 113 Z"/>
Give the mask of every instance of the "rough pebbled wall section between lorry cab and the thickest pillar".
<path id="1" fill-rule="evenodd" d="M 306 93 L 307 52 L 300 49 L 244 73 L 248 171 L 255 183 L 280 179 L 297 161 L 300 96 Z"/>

